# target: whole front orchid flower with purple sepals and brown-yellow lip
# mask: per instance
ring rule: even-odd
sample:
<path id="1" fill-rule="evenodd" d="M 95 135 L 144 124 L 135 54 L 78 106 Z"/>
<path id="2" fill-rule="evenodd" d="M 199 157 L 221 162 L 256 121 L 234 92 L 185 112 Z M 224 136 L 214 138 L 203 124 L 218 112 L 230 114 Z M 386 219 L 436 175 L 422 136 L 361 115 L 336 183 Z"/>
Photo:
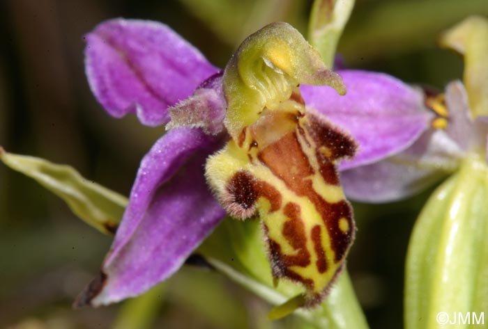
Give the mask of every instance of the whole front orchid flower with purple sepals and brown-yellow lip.
<path id="1" fill-rule="evenodd" d="M 100 275 L 77 305 L 165 280 L 226 214 L 259 214 L 273 276 L 300 282 L 305 305 L 317 305 L 355 231 L 336 163 L 349 159 L 349 170 L 402 152 L 432 120 L 420 90 L 386 74 L 332 72 L 284 23 L 247 38 L 223 72 L 156 22 L 109 20 L 86 42 L 105 110 L 169 131 L 142 159 Z"/>

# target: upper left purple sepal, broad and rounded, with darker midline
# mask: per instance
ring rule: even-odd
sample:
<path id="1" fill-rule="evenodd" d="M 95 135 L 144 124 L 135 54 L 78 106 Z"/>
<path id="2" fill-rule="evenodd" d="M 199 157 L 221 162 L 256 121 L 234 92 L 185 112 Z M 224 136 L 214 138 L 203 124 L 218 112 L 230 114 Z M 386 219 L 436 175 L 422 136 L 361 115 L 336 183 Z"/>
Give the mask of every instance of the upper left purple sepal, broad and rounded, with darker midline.
<path id="1" fill-rule="evenodd" d="M 93 94 L 116 118 L 167 123 L 167 108 L 218 71 L 165 24 L 111 19 L 86 35 L 85 69 Z"/>

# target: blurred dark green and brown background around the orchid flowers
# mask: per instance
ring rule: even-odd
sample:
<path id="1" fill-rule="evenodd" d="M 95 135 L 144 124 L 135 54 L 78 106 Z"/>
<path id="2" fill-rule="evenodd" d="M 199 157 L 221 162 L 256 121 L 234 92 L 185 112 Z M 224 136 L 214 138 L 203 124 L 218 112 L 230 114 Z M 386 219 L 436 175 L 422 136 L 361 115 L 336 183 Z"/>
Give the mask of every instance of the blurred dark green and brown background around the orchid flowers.
<path id="1" fill-rule="evenodd" d="M 84 76 L 84 33 L 112 17 L 154 19 L 223 67 L 245 36 L 269 22 L 286 21 L 306 34 L 311 6 L 311 0 L 0 1 L 0 145 L 68 163 L 128 195 L 139 160 L 164 127 L 105 114 Z M 436 37 L 473 13 L 488 15 L 488 1 L 358 0 L 339 52 L 346 67 L 441 89 L 462 77 L 462 59 L 437 48 Z M 355 204 L 358 234 L 348 266 L 372 328 L 402 328 L 406 246 L 427 195 Z M 61 200 L 1 165 L 0 327 L 131 328 L 135 311 L 123 303 L 70 307 L 110 243 Z M 156 291 L 158 303 L 141 311 L 152 325 L 137 328 L 301 328 L 293 318 L 266 321 L 266 303 L 211 271 L 184 268 L 171 281 Z"/>

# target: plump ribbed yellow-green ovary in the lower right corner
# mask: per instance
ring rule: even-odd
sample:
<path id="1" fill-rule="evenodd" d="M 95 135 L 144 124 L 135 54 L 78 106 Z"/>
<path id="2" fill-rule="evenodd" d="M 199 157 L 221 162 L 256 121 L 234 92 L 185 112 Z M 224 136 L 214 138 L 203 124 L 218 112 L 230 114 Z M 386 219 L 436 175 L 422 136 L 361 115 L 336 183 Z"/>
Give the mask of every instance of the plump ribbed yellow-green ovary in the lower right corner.
<path id="1" fill-rule="evenodd" d="M 487 200 L 488 167 L 472 154 L 425 205 L 406 261 L 407 329 L 439 328 L 439 312 L 488 310 Z"/>

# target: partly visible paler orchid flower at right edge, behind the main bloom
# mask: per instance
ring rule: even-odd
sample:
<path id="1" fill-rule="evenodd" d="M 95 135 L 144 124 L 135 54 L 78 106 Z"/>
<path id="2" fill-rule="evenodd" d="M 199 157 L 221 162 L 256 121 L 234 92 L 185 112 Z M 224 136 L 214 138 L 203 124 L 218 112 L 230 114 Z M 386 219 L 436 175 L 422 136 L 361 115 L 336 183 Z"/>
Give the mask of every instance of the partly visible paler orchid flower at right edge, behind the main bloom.
<path id="1" fill-rule="evenodd" d="M 425 90 L 425 114 L 430 119 L 423 121 L 422 134 L 406 143 L 409 147 L 400 147 L 388 157 L 344 171 L 342 183 L 349 198 L 363 202 L 406 198 L 456 172 L 473 154 L 484 157 L 488 131 L 488 74 L 481 59 L 486 54 L 483 47 L 487 51 L 487 46 L 484 46 L 487 35 L 483 34 L 482 22 L 480 17 L 467 19 L 458 29 L 445 33 L 442 40 L 445 47 L 463 54 L 466 52 L 465 83 L 468 91 L 461 81 L 449 83 L 444 93 Z M 469 26 L 469 32 L 466 26 Z M 466 36 L 469 33 L 473 35 L 471 41 Z M 306 99 L 307 94 L 304 95 Z M 336 106 L 340 104 L 340 100 L 334 97 L 324 97 L 328 101 L 322 103 L 323 106 L 330 105 L 327 102 Z M 343 163 L 342 168 L 347 166 L 348 163 Z"/>

